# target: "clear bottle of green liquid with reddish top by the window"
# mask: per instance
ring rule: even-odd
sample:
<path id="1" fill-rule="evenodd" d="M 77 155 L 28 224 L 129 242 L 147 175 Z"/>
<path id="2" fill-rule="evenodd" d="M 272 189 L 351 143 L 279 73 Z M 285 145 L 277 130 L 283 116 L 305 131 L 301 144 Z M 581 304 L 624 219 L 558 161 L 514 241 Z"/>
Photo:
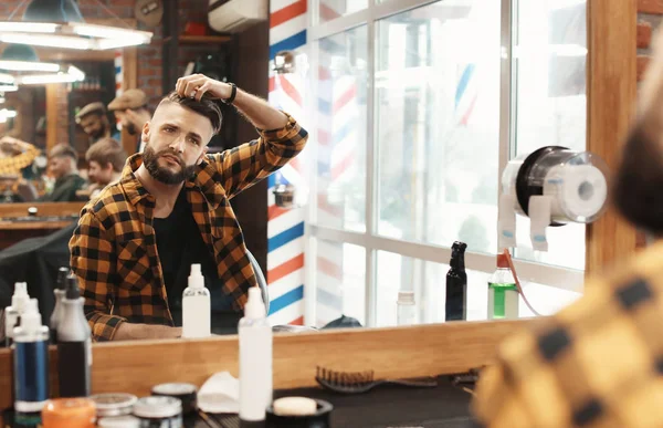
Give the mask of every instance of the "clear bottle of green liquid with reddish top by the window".
<path id="1" fill-rule="evenodd" d="M 506 255 L 497 254 L 497 270 L 488 280 L 488 320 L 516 320 L 519 297 Z"/>

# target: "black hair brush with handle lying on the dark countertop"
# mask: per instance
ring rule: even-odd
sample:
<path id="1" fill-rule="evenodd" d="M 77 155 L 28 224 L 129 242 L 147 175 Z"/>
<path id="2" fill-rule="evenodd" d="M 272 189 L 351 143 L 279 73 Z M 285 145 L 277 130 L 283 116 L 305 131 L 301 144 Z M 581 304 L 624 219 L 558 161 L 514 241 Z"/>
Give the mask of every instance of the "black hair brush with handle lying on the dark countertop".
<path id="1" fill-rule="evenodd" d="M 412 388 L 434 388 L 438 380 L 427 377 L 420 380 L 382 379 L 375 380 L 373 370 L 346 373 L 317 367 L 315 380 L 324 388 L 340 394 L 367 393 L 379 385 L 398 385 Z"/>

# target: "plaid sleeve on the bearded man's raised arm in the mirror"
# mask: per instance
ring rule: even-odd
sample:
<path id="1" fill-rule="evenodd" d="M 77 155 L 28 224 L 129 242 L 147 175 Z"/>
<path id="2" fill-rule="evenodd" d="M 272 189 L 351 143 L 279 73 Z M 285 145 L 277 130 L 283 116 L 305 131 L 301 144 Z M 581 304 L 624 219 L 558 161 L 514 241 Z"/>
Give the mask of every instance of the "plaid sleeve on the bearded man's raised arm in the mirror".
<path id="1" fill-rule="evenodd" d="M 287 114 L 286 114 L 287 115 Z M 211 178 L 220 181 L 229 198 L 266 178 L 286 165 L 305 147 L 308 133 L 292 116 L 280 129 L 256 129 L 260 137 L 250 143 L 208 156 Z"/>

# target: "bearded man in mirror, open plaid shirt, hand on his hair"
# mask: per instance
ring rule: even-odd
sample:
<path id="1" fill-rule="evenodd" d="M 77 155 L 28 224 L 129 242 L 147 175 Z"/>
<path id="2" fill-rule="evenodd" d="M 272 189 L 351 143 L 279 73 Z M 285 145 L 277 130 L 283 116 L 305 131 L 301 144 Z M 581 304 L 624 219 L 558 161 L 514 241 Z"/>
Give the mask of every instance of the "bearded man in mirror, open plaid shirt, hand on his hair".
<path id="1" fill-rule="evenodd" d="M 219 101 L 232 103 L 260 136 L 207 155 L 221 128 Z M 180 336 L 192 263 L 210 289 L 212 332 L 229 319 L 236 326 L 256 279 L 229 201 L 295 157 L 306 131 L 233 84 L 194 74 L 178 80 L 141 138 L 145 153 L 129 157 L 119 182 L 83 208 L 70 241 L 94 338 Z"/>

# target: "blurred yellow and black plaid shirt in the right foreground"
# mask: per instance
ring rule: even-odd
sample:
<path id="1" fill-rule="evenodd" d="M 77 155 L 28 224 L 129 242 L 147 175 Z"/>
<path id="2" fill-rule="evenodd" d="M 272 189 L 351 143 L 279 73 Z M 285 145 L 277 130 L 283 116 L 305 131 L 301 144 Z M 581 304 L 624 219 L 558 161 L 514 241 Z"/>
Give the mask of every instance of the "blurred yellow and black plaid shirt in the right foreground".
<path id="1" fill-rule="evenodd" d="M 492 428 L 663 427 L 663 243 L 505 341 L 473 409 Z"/>

